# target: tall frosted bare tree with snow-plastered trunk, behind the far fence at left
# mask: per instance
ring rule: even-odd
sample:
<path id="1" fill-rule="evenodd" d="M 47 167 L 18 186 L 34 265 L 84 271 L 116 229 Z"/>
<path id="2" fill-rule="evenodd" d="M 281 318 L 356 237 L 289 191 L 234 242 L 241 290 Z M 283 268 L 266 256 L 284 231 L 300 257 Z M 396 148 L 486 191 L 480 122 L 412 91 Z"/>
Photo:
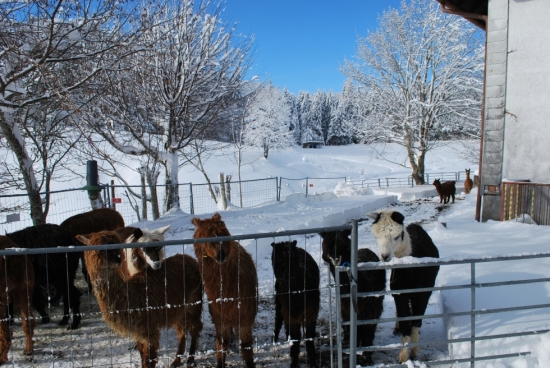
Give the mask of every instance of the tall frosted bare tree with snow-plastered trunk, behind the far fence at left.
<path id="1" fill-rule="evenodd" d="M 110 75 L 111 90 L 90 123 L 120 152 L 161 162 L 165 210 L 179 209 L 179 156 L 210 127 L 227 123 L 224 110 L 248 68 L 250 43 L 238 42 L 235 28 L 222 23 L 221 9 L 209 0 L 170 3 L 147 17 L 151 30 L 142 42 L 148 51 Z M 150 135 L 162 140 L 161 149 L 151 146 Z"/>

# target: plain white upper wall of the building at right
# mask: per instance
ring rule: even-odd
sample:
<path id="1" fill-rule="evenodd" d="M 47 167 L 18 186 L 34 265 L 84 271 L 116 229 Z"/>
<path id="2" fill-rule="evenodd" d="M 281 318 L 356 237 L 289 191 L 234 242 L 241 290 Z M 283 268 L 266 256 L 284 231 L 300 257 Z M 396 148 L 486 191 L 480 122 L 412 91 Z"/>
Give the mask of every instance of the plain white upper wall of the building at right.
<path id="1" fill-rule="evenodd" d="M 550 183 L 550 1 L 508 1 L 503 179 Z"/>

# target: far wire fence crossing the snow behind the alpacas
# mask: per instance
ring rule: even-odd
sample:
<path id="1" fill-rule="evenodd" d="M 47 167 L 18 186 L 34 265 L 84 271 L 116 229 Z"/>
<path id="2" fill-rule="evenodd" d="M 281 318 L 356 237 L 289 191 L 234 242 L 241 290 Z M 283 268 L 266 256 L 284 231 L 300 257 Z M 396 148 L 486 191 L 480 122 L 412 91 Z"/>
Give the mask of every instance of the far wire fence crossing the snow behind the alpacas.
<path id="1" fill-rule="evenodd" d="M 426 173 L 426 178 L 429 180 L 438 177 L 442 180 L 458 181 L 461 180 L 462 174 L 460 172 Z M 409 176 L 358 180 L 346 177 L 300 179 L 271 177 L 259 180 L 232 181 L 225 183 L 225 186 L 229 188 L 226 193 L 229 193 L 228 199 L 232 206 L 253 208 L 280 201 L 295 193 L 302 193 L 307 197 L 311 194 L 331 192 L 339 183 L 344 182 L 358 188 L 390 188 L 415 185 L 414 180 Z M 103 201 L 105 205 L 120 212 L 126 224 L 132 224 L 144 218 L 142 215 L 143 202 L 132 193 L 141 193 L 143 190 L 145 196 L 150 198 L 152 194 L 149 187 L 112 184 L 103 184 L 102 186 L 104 187 Z M 220 186 L 221 183 L 212 183 L 214 191 L 219 190 Z M 166 199 L 166 186 L 157 185 L 155 191 L 159 207 L 162 209 Z M 81 188 L 44 192 L 40 195 L 43 198 L 46 196 L 50 198 L 48 223 L 61 224 L 65 219 L 91 209 L 88 194 Z M 208 189 L 208 184 L 180 184 L 178 186 L 178 198 L 180 209 L 185 213 L 203 214 L 219 210 L 218 204 L 212 198 L 212 194 Z M 147 218 L 153 220 L 150 202 L 147 203 L 146 212 Z M 7 232 L 13 232 L 32 225 L 26 194 L 0 195 L 0 224 L 3 230 Z"/>

